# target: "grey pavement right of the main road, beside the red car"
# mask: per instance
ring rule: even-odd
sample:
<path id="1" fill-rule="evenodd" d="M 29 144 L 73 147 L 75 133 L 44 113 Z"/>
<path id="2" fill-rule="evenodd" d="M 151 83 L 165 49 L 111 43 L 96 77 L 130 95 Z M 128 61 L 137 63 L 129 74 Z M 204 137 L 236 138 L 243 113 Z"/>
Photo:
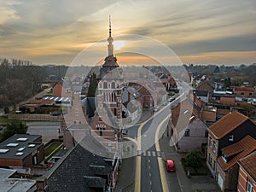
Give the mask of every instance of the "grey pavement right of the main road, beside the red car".
<path id="1" fill-rule="evenodd" d="M 177 154 L 171 137 L 166 137 L 166 132 L 164 137 L 160 138 L 160 149 L 162 151 L 163 160 L 173 159 L 176 162 L 177 168 L 177 181 L 179 183 L 178 191 L 181 192 L 195 192 L 195 190 L 201 192 L 218 192 L 218 184 L 214 181 L 210 174 L 207 176 L 198 176 L 198 177 L 187 177 L 186 173 L 183 171 L 183 166 L 181 164 L 181 156 Z M 171 146 L 170 146 L 171 145 Z M 166 178 L 168 180 L 169 186 L 173 185 L 172 172 L 166 172 Z M 176 192 L 177 190 L 174 190 Z"/>

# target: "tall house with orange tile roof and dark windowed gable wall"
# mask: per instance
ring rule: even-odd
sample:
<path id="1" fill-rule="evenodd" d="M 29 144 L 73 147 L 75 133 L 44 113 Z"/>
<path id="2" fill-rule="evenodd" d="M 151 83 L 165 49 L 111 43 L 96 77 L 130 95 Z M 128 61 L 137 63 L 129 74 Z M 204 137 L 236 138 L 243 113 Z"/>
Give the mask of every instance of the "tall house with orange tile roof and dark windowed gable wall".
<path id="1" fill-rule="evenodd" d="M 208 129 L 207 166 L 213 177 L 217 177 L 217 159 L 222 148 L 239 142 L 247 135 L 256 139 L 256 125 L 247 116 L 234 112 L 228 113 Z"/>

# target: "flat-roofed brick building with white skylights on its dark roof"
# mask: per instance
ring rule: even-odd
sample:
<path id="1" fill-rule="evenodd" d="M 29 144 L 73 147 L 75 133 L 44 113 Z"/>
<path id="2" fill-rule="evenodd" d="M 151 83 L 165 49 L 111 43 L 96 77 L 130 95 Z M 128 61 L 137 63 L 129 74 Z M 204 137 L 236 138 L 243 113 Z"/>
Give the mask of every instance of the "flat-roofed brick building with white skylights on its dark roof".
<path id="1" fill-rule="evenodd" d="M 0 143 L 0 166 L 32 167 L 43 160 L 42 136 L 15 134 Z"/>

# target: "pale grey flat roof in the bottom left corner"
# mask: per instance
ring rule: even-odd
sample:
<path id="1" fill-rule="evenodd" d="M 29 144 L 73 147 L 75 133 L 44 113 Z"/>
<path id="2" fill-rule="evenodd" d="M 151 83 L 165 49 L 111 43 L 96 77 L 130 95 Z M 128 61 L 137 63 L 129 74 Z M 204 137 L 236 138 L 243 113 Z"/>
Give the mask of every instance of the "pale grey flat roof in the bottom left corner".
<path id="1" fill-rule="evenodd" d="M 0 168 L 0 190 L 1 192 L 34 192 L 36 191 L 36 181 L 17 177 L 17 171 L 13 169 Z"/>

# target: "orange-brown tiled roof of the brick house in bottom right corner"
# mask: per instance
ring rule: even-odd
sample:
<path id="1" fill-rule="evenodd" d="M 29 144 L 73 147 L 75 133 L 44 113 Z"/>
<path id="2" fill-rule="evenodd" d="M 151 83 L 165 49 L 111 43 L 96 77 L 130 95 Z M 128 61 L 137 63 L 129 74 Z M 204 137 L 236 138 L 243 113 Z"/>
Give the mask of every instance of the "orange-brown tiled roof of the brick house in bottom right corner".
<path id="1" fill-rule="evenodd" d="M 242 158 L 238 163 L 256 181 L 256 151 Z"/>

